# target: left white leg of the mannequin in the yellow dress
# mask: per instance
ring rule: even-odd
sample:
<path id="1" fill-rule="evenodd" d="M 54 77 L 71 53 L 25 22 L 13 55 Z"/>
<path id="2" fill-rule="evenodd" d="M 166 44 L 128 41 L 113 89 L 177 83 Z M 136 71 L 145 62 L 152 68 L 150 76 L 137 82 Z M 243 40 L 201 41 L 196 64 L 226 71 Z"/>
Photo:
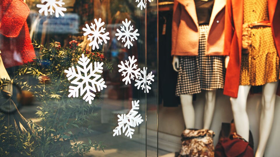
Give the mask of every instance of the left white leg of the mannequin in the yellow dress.
<path id="1" fill-rule="evenodd" d="M 230 98 L 237 134 L 249 141 L 249 119 L 246 112 L 250 85 L 239 85 L 237 98 Z"/>

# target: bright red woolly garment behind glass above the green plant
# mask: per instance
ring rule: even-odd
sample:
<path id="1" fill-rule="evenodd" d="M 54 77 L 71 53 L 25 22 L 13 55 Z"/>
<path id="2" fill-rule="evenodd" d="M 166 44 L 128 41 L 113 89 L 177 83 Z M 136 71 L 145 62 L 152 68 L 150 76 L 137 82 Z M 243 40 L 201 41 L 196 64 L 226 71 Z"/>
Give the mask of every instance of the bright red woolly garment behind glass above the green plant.
<path id="1" fill-rule="evenodd" d="M 0 1 L 0 10 L 0 49 L 4 66 L 32 62 L 35 53 L 26 22 L 28 6 L 22 0 L 5 0 Z"/>

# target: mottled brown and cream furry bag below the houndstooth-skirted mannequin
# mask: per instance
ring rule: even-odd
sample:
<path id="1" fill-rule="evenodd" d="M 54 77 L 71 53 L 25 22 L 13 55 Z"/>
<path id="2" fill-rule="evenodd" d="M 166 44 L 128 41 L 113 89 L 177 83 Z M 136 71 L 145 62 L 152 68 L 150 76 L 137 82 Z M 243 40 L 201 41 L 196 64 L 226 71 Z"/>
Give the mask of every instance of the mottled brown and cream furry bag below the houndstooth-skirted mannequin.
<path id="1" fill-rule="evenodd" d="M 213 157 L 213 137 L 208 129 L 186 129 L 182 133 L 182 148 L 177 157 Z"/>

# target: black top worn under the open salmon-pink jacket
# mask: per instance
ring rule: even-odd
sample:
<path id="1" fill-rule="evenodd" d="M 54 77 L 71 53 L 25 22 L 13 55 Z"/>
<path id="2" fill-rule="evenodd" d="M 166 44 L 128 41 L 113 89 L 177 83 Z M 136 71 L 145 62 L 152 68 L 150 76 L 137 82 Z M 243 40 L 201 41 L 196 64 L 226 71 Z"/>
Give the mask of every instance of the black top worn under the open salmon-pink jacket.
<path id="1" fill-rule="evenodd" d="M 215 0 L 194 0 L 198 24 L 209 24 Z"/>

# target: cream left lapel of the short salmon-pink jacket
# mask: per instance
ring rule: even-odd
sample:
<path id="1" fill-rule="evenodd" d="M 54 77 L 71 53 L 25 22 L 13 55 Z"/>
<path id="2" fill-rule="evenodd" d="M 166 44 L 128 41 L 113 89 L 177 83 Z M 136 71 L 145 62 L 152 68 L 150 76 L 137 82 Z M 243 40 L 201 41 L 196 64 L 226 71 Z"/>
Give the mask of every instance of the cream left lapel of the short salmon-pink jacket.
<path id="1" fill-rule="evenodd" d="M 198 28 L 198 20 L 197 20 L 197 15 L 196 15 L 196 10 L 195 10 L 195 1 L 194 0 L 177 0 L 185 10 L 188 12 L 190 17 L 192 17 L 193 22 Z"/>

